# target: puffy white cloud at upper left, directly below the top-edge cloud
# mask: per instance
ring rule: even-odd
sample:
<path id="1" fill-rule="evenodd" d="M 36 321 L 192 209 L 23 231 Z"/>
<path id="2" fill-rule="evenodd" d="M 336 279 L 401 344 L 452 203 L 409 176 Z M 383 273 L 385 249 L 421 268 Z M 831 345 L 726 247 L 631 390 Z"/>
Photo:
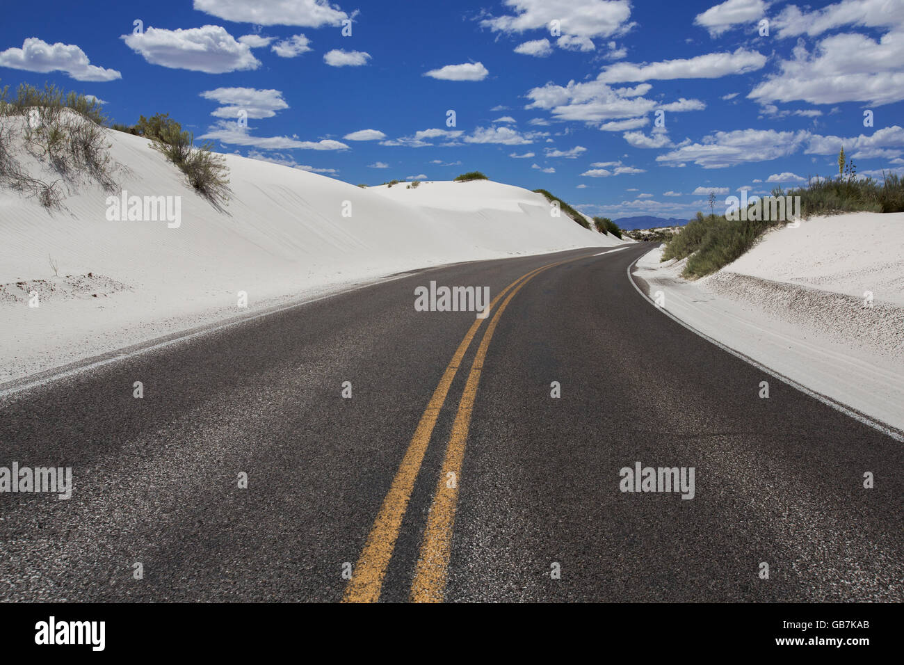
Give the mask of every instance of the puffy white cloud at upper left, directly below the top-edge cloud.
<path id="1" fill-rule="evenodd" d="M 250 46 L 236 42 L 220 25 L 187 30 L 151 27 L 143 34 L 124 34 L 122 40 L 147 62 L 170 69 L 221 74 L 260 66 Z"/>

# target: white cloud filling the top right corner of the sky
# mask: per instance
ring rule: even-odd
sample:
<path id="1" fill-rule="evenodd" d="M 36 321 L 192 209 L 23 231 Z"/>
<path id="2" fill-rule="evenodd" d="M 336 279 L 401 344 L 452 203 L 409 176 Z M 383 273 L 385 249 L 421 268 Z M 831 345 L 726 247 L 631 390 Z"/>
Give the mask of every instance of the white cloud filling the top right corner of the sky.
<path id="1" fill-rule="evenodd" d="M 813 12 L 788 5 L 774 24 L 779 37 L 807 34 L 814 37 L 843 25 L 877 28 L 904 25 L 904 4 L 897 0 L 843 0 Z"/>

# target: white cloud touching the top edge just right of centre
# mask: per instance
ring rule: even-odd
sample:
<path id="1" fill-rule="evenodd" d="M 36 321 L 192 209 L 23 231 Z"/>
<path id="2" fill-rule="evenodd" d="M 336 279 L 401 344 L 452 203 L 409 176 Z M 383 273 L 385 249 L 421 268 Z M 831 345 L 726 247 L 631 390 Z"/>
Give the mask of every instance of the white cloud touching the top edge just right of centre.
<path id="1" fill-rule="evenodd" d="M 514 14 L 480 23 L 494 32 L 524 33 L 559 21 L 562 34 L 607 37 L 624 32 L 631 16 L 628 0 L 504 0 Z"/>

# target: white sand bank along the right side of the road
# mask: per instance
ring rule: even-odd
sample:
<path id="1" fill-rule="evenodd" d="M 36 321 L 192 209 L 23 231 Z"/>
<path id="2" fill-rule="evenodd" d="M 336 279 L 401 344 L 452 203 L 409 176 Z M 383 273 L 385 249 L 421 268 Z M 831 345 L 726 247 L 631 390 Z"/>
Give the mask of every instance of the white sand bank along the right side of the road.
<path id="1" fill-rule="evenodd" d="M 661 249 L 636 276 L 704 335 L 904 430 L 902 248 L 904 214 L 814 217 L 702 280 L 680 277 L 684 261 L 660 263 Z"/>

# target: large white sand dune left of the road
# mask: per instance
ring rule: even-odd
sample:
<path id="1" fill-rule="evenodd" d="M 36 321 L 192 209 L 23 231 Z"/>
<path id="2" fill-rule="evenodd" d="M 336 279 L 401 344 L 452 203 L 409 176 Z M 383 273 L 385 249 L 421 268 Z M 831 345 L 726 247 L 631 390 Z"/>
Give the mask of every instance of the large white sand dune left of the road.
<path id="1" fill-rule="evenodd" d="M 542 195 L 520 187 L 363 189 L 235 155 L 225 156 L 232 198 L 221 213 L 146 139 L 110 131 L 108 140 L 126 167 L 121 188 L 181 197 L 181 223 L 108 221 L 108 193 L 94 184 L 68 186 L 52 214 L 0 187 L 0 382 L 398 271 L 619 244 L 552 217 Z M 237 309 L 241 290 L 248 309 Z"/>

